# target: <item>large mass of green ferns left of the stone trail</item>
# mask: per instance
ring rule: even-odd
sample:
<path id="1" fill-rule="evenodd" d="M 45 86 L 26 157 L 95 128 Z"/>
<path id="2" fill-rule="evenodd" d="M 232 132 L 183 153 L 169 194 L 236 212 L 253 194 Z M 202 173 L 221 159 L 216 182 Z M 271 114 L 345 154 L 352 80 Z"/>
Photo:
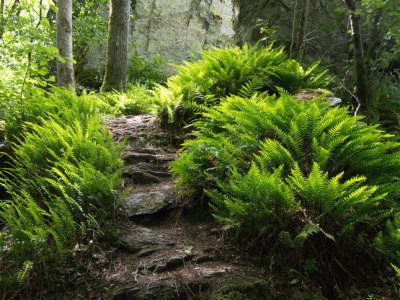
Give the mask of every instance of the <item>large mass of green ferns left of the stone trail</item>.
<path id="1" fill-rule="evenodd" d="M 0 222 L 8 227 L 0 237 L 3 293 L 64 263 L 120 200 L 121 146 L 101 124 L 110 106 L 61 89 L 31 95 L 5 117 L 13 151 L 0 172 L 10 195 L 0 202 Z"/>

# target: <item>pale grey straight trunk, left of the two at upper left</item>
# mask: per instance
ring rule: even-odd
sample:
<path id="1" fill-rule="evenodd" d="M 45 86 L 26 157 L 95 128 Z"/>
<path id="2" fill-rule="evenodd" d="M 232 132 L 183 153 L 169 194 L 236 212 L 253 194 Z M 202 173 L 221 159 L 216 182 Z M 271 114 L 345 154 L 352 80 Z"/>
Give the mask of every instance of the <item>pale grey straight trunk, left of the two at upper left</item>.
<path id="1" fill-rule="evenodd" d="M 72 0 L 57 1 L 57 48 L 65 61 L 57 62 L 57 82 L 62 87 L 75 87 L 72 63 Z"/>

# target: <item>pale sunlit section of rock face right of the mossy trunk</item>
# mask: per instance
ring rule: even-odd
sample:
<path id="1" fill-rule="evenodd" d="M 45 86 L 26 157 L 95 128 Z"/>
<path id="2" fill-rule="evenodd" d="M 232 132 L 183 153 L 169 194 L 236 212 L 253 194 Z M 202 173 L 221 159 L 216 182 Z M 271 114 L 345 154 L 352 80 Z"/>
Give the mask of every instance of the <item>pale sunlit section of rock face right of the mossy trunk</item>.
<path id="1" fill-rule="evenodd" d="M 133 55 L 161 54 L 167 62 L 181 63 L 203 47 L 233 40 L 232 0 L 136 0 L 132 15 Z"/>

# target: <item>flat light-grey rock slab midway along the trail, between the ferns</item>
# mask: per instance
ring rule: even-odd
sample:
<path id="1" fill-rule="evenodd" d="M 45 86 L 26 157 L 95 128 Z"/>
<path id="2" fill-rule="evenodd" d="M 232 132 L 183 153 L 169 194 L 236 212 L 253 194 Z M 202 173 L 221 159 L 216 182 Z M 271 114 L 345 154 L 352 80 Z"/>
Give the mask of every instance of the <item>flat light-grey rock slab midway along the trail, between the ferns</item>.
<path id="1" fill-rule="evenodd" d="M 128 217 L 160 212 L 172 206 L 173 199 L 164 191 L 133 193 L 125 198 L 122 209 Z"/>

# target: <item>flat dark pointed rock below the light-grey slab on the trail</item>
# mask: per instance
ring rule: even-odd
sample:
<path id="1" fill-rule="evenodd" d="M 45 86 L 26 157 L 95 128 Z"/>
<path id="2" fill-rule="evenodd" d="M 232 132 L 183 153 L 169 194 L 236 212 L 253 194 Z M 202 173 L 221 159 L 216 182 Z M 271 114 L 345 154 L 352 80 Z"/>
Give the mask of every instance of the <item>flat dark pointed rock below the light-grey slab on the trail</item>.
<path id="1" fill-rule="evenodd" d="M 138 227 L 120 237 L 121 248 L 138 256 L 147 256 L 174 245 L 151 229 Z"/>

